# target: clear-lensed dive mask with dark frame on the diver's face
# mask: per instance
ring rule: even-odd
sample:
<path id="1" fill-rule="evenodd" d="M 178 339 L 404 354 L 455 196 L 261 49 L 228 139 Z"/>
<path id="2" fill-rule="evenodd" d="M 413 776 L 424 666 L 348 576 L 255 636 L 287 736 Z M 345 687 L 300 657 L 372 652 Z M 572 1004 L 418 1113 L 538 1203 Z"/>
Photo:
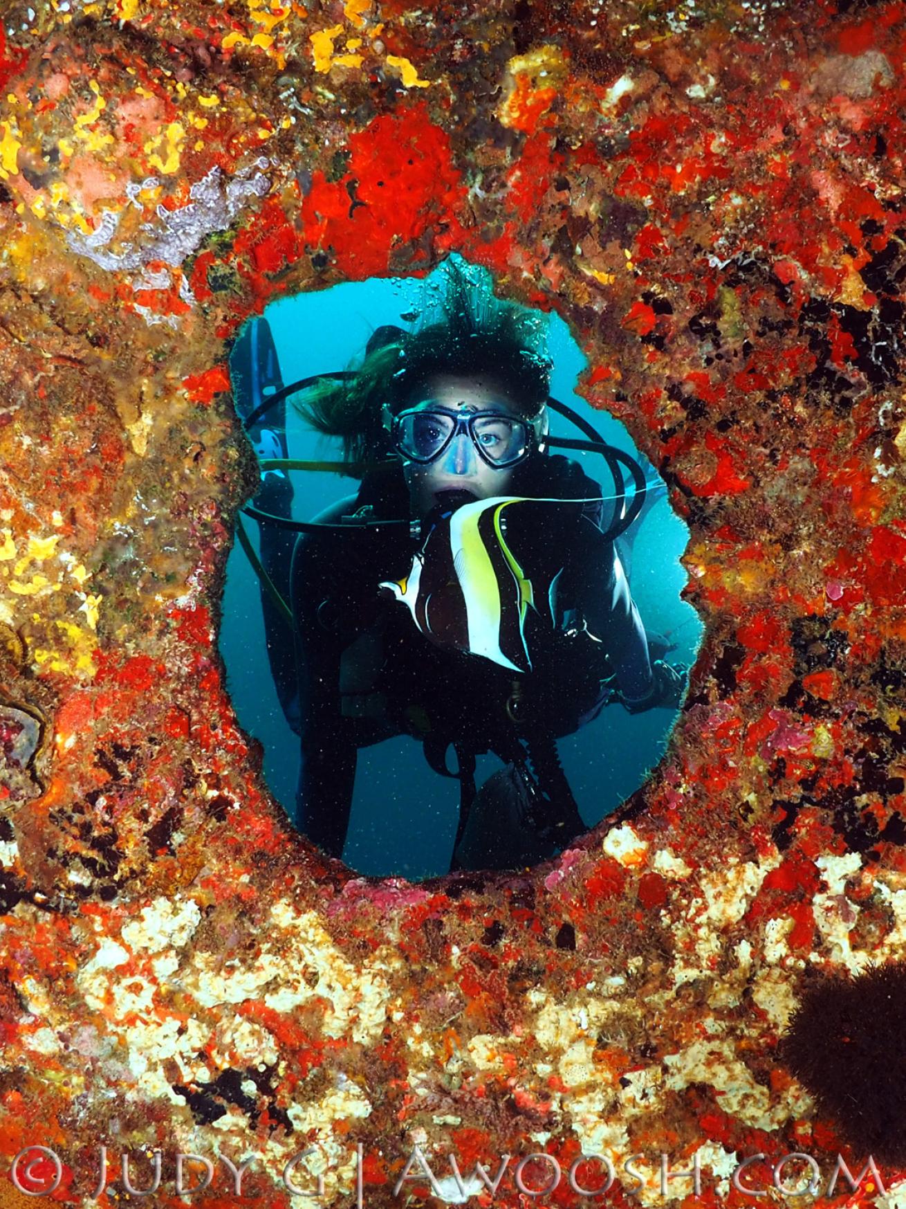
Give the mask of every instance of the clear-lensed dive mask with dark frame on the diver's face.
<path id="1" fill-rule="evenodd" d="M 478 457 L 495 470 L 516 465 L 538 447 L 533 426 L 510 412 L 412 407 L 393 417 L 390 442 L 410 462 L 436 461 L 459 434 L 467 433 Z"/>

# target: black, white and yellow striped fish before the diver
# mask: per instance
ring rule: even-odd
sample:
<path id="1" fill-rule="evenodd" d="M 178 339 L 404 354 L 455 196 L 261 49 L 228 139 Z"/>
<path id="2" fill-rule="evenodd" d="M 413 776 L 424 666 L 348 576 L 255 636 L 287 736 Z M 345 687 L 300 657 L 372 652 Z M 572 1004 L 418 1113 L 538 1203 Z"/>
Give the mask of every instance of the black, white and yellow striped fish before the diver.
<path id="1" fill-rule="evenodd" d="M 463 504 L 434 523 L 408 575 L 381 588 L 408 607 L 418 629 L 436 646 L 528 672 L 527 615 L 532 609 L 553 621 L 564 553 L 564 543 L 538 525 L 538 505 L 548 505 L 548 514 L 550 505 L 561 511 L 573 505 L 577 515 L 582 503 L 494 496 Z M 535 505 L 530 514 L 527 505 Z M 517 516 L 523 523 L 513 523 Z"/>

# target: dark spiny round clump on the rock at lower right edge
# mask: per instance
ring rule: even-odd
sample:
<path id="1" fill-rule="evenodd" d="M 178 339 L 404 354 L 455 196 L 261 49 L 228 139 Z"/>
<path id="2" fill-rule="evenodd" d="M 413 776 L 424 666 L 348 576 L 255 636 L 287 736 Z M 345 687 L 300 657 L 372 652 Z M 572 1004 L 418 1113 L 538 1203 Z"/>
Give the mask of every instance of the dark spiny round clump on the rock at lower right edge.
<path id="1" fill-rule="evenodd" d="M 906 1161 L 906 964 L 808 985 L 782 1055 L 858 1152 Z"/>

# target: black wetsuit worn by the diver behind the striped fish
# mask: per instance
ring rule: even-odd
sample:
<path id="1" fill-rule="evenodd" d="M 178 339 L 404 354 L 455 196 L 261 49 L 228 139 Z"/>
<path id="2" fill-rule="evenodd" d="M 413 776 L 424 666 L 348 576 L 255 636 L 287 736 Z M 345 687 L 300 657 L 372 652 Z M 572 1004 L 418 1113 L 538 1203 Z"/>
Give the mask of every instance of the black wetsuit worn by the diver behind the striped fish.
<path id="1" fill-rule="evenodd" d="M 516 468 L 507 494 L 587 499 L 600 488 L 575 462 L 539 455 Z M 399 519 L 408 510 L 401 469 L 393 467 L 366 476 L 350 507 L 323 519 L 337 520 L 339 511 Z M 562 532 L 539 537 L 557 549 L 563 573 L 557 625 L 535 626 L 533 671 L 523 676 L 432 644 L 408 608 L 378 590 L 411 568 L 417 543 L 407 526 L 350 526 L 296 542 L 297 710 L 285 666 L 274 670 L 284 710 L 301 734 L 296 821 L 325 852 L 342 856 L 359 747 L 411 734 L 434 753 L 435 767 L 446 763 L 451 744 L 460 759 L 489 750 L 506 760 L 521 739 L 569 734 L 597 716 L 609 695 L 608 675 L 628 695 L 643 694 L 651 679 L 645 631 L 599 520 L 600 505 L 586 504 Z"/>

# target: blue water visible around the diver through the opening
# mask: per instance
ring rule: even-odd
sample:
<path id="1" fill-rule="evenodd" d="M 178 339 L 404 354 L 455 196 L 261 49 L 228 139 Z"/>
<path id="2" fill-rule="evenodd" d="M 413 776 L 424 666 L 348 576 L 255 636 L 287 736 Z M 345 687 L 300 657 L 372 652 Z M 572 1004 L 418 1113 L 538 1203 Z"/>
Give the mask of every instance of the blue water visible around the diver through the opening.
<path id="1" fill-rule="evenodd" d="M 312 374 L 345 369 L 374 328 L 385 323 L 400 324 L 403 314 L 418 310 L 423 288 L 418 280 L 370 280 L 272 303 L 266 317 L 277 345 L 283 381 L 289 383 Z M 550 320 L 548 349 L 554 361 L 553 397 L 591 420 L 610 444 L 638 458 L 638 450 L 622 424 L 593 411 L 573 393 L 586 360 L 569 329 L 557 317 Z M 552 416 L 551 420 L 553 435 L 581 435 L 562 417 Z M 288 407 L 286 430 L 290 457 L 339 456 L 338 442 L 312 434 L 291 406 Z M 609 478 L 600 457 L 575 456 L 608 491 Z M 354 491 L 349 479 L 331 474 L 297 473 L 294 481 L 294 515 L 298 520 L 310 519 Z M 256 522 L 246 520 L 245 526 L 256 540 Z M 689 666 L 695 660 L 702 624 L 692 607 L 680 600 L 686 573 L 679 559 L 687 539 L 686 526 L 660 494 L 637 526 L 631 584 L 646 629 L 668 635 L 676 644 L 668 659 Z M 298 739 L 286 725 L 277 700 L 265 647 L 259 584 L 238 543 L 227 563 L 220 649 L 239 721 L 263 745 L 267 783 L 292 817 Z M 590 826 L 616 809 L 643 783 L 661 758 L 674 718 L 673 711 L 663 708 L 629 716 L 621 706 L 611 706 L 576 735 L 561 740 L 563 765 Z M 478 780 L 499 767 L 493 757 L 483 757 Z M 343 854 L 347 864 L 365 874 L 399 874 L 410 879 L 446 873 L 458 805 L 458 782 L 432 773 L 413 739 L 400 736 L 364 750 L 359 753 Z"/>

